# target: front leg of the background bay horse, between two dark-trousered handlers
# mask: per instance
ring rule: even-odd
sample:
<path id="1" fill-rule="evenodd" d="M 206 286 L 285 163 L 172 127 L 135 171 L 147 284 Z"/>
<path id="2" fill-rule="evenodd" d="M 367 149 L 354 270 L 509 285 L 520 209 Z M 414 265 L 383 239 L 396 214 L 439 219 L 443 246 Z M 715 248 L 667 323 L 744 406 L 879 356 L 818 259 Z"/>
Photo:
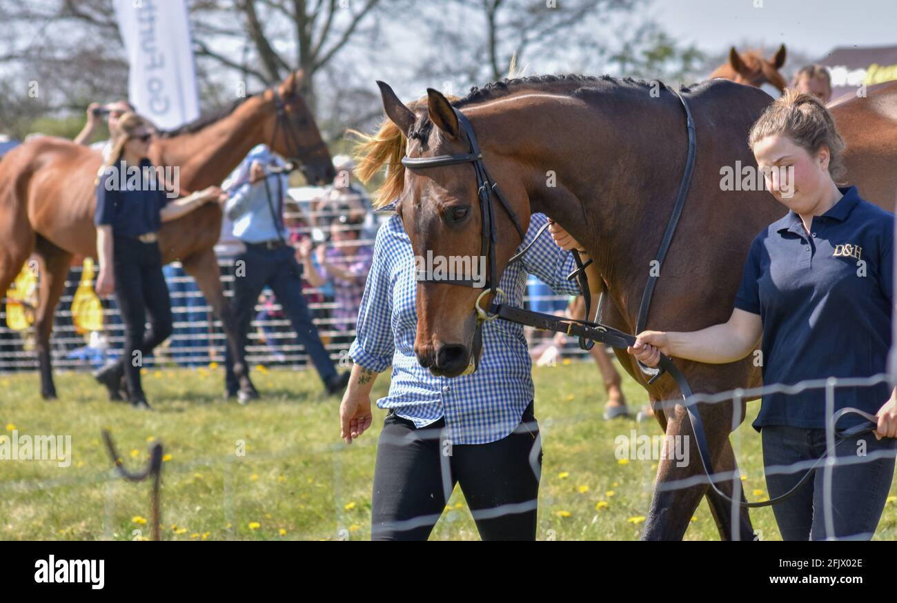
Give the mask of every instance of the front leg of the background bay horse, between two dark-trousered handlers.
<path id="1" fill-rule="evenodd" d="M 249 395 L 255 396 L 256 388 L 249 379 L 246 354 L 239 345 L 237 336 L 237 321 L 233 315 L 231 304 L 224 297 L 221 274 L 218 268 L 218 258 L 212 249 L 205 249 L 184 258 L 181 264 L 188 275 L 193 276 L 196 285 L 203 292 L 205 300 L 212 306 L 214 315 L 222 321 L 224 335 L 227 337 L 227 345 L 231 348 L 234 375 L 239 380 L 239 389 Z"/>

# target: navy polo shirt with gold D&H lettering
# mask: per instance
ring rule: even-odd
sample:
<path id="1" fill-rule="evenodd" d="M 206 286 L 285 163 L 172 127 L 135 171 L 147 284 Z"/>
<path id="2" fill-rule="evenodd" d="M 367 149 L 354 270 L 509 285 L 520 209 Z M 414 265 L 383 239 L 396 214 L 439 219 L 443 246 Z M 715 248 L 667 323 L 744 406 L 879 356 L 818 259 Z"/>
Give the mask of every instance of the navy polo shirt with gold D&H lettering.
<path id="1" fill-rule="evenodd" d="M 735 307 L 763 323 L 763 383 L 868 377 L 887 371 L 893 309 L 894 215 L 840 188 L 810 234 L 793 211 L 751 243 Z M 875 414 L 890 398 L 887 383 L 836 387 L 835 410 Z M 838 425 L 858 424 L 857 415 Z M 825 427 L 825 389 L 762 397 L 753 427 Z"/>

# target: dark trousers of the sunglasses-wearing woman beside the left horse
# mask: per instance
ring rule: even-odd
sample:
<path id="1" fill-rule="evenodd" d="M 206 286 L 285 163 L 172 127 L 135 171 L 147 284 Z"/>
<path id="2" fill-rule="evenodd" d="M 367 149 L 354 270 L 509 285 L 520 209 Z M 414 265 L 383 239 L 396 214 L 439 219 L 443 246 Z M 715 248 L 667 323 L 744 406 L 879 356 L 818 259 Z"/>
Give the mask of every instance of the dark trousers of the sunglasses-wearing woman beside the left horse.
<path id="1" fill-rule="evenodd" d="M 134 400 L 144 398 L 140 382 L 144 358 L 171 335 L 171 301 L 158 243 L 116 237 L 113 246 L 115 294 L 125 323 L 125 347 L 118 362 L 124 366 L 127 391 Z M 137 350 L 139 362 L 134 354 Z"/>

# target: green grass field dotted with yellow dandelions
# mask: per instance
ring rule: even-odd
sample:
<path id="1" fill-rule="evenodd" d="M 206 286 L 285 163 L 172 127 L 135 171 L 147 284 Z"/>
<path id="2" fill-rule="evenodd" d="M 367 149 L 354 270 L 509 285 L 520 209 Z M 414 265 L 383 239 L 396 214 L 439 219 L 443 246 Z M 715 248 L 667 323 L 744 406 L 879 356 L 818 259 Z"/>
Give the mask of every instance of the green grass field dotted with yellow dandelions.
<path id="1" fill-rule="evenodd" d="M 34 373 L 0 377 L 0 433 L 70 434 L 68 468 L 57 461 L 0 461 L 0 539 L 135 539 L 148 537 L 149 485 L 110 473 L 100 431 L 109 427 L 128 467 L 144 465 L 150 441 L 165 447 L 164 539 L 367 539 L 379 427 L 346 446 L 339 440 L 338 400 L 324 398 L 317 375 L 253 374 L 263 398 L 250 406 L 222 401 L 222 369 L 151 370 L 144 377 L 154 410 L 139 412 L 104 399 L 86 374 L 60 374 L 60 399 L 39 398 Z M 648 510 L 656 461 L 618 461 L 614 437 L 659 434 L 656 423 L 601 419 L 605 392 L 591 363 L 536 369 L 536 417 L 544 465 L 540 539 L 636 539 Z M 375 398 L 388 389 L 377 383 Z M 628 378 L 632 408 L 643 390 Z M 760 437 L 749 420 L 733 436 L 752 500 L 766 496 Z M 239 456 L 239 441 L 245 455 Z M 876 533 L 897 538 L 893 494 Z M 772 511 L 752 511 L 762 539 L 779 539 Z M 456 488 L 433 539 L 477 539 Z M 717 539 L 701 502 L 687 539 Z"/>

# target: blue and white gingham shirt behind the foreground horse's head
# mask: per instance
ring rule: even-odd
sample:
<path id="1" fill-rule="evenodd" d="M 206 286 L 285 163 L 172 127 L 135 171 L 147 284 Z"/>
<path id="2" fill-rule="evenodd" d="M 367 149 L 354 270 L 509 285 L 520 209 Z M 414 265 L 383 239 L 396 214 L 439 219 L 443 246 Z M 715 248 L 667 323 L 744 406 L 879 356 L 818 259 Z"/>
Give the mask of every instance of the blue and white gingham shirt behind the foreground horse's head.
<path id="1" fill-rule="evenodd" d="M 547 221 L 544 214 L 533 214 L 520 248 Z M 523 258 L 505 269 L 499 287 L 507 293 L 508 303 L 518 307 L 523 305 L 527 273 L 538 276 L 555 293 L 579 295 L 579 286 L 567 280 L 574 268 L 572 253 L 544 232 Z M 416 293 L 414 250 L 401 219 L 393 214 L 377 232 L 357 336 L 349 349 L 353 361 L 369 371 L 382 372 L 392 365 L 388 396 L 377 400 L 377 406 L 395 408 L 396 415 L 418 428 L 445 417 L 446 435 L 453 444 L 484 444 L 508 436 L 520 424 L 535 391 L 523 326 L 501 319 L 484 323 L 477 370 L 461 377 L 438 377 L 414 355 Z"/>

